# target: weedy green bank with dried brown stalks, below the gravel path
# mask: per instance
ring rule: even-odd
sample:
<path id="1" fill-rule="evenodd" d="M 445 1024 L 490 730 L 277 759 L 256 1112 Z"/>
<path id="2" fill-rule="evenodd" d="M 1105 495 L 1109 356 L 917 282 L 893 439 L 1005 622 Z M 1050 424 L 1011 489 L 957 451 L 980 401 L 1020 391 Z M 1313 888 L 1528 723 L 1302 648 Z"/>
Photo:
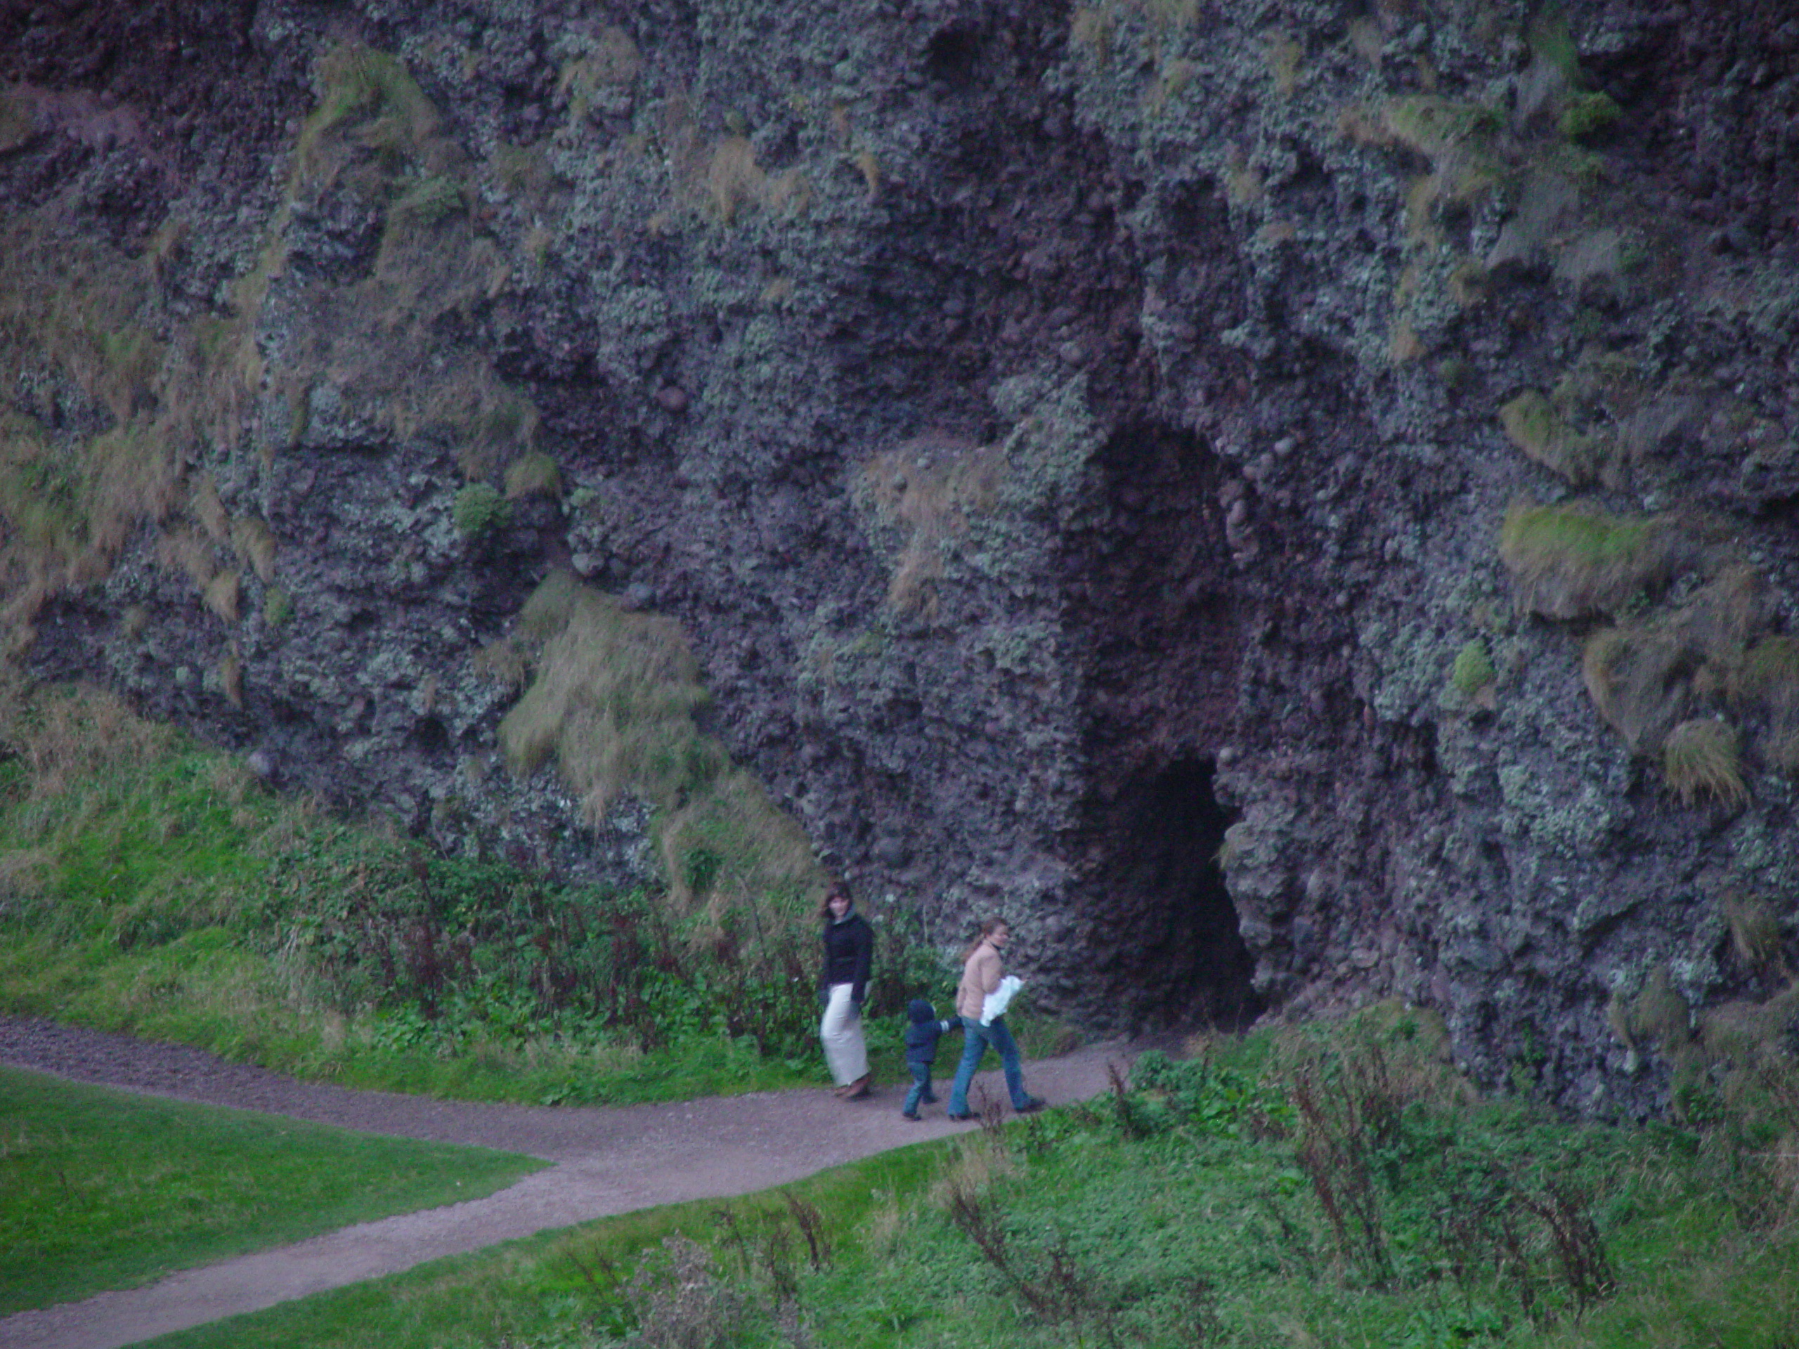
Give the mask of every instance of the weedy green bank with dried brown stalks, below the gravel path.
<path id="1" fill-rule="evenodd" d="M 1777 1157 L 1725 1142 L 1475 1099 L 1428 1020 L 1389 1009 L 1148 1058 L 1128 1090 L 779 1193 L 543 1234 L 157 1344 L 1795 1344 L 1792 1187 Z"/>

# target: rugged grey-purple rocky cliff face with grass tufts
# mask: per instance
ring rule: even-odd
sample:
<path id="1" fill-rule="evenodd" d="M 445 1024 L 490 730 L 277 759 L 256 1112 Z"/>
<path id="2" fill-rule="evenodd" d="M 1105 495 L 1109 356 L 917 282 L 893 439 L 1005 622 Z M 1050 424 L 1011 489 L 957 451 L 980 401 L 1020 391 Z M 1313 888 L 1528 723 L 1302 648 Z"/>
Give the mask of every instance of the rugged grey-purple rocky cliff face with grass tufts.
<path id="1" fill-rule="evenodd" d="M 1092 1023 L 1398 995 L 1607 1112 L 1774 993 L 1783 5 L 95 0 L 0 52 L 34 674 L 678 869 L 498 766 L 572 572 L 828 865 L 1004 912 Z"/>

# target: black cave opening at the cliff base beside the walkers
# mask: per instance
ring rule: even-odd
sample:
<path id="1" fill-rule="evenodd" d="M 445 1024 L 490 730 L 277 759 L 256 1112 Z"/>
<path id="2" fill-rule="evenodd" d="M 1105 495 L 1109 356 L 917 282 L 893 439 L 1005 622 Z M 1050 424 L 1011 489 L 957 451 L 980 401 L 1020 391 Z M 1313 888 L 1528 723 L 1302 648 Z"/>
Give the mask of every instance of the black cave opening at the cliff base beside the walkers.
<path id="1" fill-rule="evenodd" d="M 1139 1029 L 1236 1031 L 1263 1011 L 1218 860 L 1231 815 L 1213 791 L 1214 773 L 1209 757 L 1180 757 L 1119 802 L 1115 880 L 1137 905 Z"/>

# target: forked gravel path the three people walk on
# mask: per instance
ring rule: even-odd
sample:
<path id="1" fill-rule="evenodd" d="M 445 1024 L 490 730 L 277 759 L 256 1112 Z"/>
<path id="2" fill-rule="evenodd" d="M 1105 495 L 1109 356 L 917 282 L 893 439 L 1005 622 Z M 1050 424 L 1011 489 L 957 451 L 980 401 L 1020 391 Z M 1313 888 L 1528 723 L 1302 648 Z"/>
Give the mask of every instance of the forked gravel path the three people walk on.
<path id="1" fill-rule="evenodd" d="M 1088 1045 L 1025 1065 L 1025 1079 L 1052 1104 L 1081 1101 L 1105 1090 L 1108 1061 L 1123 1063 L 1130 1054 L 1123 1043 Z M 946 1059 L 953 1067 L 953 1052 Z M 935 1113 L 926 1113 L 923 1124 L 901 1119 L 898 1086 L 847 1104 L 826 1088 L 804 1088 L 590 1108 L 354 1092 L 225 1063 L 183 1045 L 7 1016 L 0 1016 L 0 1061 L 182 1101 L 498 1148 L 556 1164 L 482 1200 L 360 1223 L 185 1270 L 146 1288 L 0 1318 L 5 1349 L 117 1349 L 543 1228 L 680 1200 L 748 1194 L 973 1128 L 946 1121 L 943 1106 L 926 1106 Z M 975 1079 L 975 1099 L 980 1092 L 1004 1099 L 998 1072 Z"/>

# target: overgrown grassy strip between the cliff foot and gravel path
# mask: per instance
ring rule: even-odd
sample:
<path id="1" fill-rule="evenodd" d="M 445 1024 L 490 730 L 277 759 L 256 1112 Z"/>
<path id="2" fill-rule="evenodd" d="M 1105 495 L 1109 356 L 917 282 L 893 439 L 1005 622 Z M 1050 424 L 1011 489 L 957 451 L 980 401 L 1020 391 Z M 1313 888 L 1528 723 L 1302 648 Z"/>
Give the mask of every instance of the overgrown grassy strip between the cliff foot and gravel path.
<path id="1" fill-rule="evenodd" d="M 446 858 L 266 791 L 94 691 L 14 710 L 0 757 L 0 1011 L 302 1077 L 635 1103 L 822 1081 L 810 921 L 718 939 L 662 894 Z M 4 750 L 5 745 L 0 745 Z M 874 1070 L 941 957 L 880 925 Z M 1056 1027 L 1020 1018 L 1038 1052 Z"/>

